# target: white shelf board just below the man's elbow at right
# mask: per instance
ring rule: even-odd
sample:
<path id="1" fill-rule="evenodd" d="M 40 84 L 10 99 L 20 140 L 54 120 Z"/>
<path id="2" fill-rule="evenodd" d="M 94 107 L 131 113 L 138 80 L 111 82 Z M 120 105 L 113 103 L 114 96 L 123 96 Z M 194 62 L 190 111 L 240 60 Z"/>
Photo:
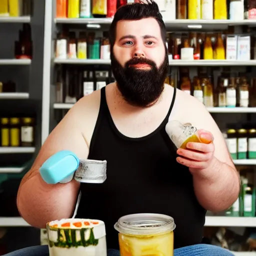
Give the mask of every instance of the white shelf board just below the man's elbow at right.
<path id="1" fill-rule="evenodd" d="M 206 216 L 204 226 L 256 227 L 256 217 Z"/>

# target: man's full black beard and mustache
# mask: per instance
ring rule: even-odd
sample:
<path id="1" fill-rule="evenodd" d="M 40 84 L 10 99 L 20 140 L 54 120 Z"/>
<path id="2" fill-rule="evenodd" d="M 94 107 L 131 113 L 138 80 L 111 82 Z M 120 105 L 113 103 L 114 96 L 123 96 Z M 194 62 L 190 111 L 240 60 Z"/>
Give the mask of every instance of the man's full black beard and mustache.
<path id="1" fill-rule="evenodd" d="M 130 65 L 148 64 L 150 69 L 137 69 Z M 111 67 L 117 88 L 124 100 L 133 106 L 145 107 L 152 105 L 161 95 L 164 80 L 168 71 L 168 55 L 159 68 L 154 61 L 146 58 L 132 58 L 122 67 L 111 52 Z"/>

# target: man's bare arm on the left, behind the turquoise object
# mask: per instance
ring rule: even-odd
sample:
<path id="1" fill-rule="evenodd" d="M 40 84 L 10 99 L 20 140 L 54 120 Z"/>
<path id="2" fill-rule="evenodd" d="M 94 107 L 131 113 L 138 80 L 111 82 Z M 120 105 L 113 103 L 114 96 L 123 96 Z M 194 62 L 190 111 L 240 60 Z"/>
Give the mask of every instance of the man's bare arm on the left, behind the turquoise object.
<path id="1" fill-rule="evenodd" d="M 71 217 L 79 191 L 79 182 L 46 184 L 39 173 L 42 163 L 60 150 L 70 150 L 87 158 L 88 145 L 82 135 L 82 107 L 78 101 L 52 130 L 42 145 L 31 169 L 24 175 L 17 194 L 21 216 L 32 226 L 43 228 L 49 220 Z"/>

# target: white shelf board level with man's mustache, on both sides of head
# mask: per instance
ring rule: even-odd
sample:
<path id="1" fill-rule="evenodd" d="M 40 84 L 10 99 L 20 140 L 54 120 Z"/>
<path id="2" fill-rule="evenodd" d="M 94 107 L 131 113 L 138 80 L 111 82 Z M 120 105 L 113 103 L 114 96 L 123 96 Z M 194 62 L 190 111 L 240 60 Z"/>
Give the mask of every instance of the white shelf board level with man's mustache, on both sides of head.
<path id="1" fill-rule="evenodd" d="M 110 65 L 110 59 L 54 59 L 54 63 L 56 64 L 101 64 L 101 65 Z M 206 60 L 206 59 L 198 59 L 198 60 L 170 60 L 170 66 L 250 66 L 256 65 L 256 60 Z"/>

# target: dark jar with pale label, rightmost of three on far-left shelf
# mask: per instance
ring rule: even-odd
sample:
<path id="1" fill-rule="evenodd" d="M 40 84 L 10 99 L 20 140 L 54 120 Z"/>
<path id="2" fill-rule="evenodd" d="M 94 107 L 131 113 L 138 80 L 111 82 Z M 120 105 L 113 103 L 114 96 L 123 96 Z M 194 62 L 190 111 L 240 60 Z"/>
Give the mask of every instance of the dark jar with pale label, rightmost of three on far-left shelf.
<path id="1" fill-rule="evenodd" d="M 21 146 L 34 146 L 34 118 L 21 118 Z"/>

